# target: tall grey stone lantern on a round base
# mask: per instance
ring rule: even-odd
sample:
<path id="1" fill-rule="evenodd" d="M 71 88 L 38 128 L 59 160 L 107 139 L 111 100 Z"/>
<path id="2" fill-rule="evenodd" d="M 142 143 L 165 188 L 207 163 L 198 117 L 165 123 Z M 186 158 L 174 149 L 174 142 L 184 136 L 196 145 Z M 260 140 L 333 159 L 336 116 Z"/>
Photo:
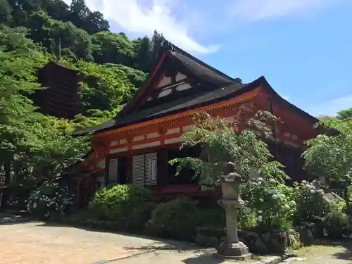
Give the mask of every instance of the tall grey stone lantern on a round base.
<path id="1" fill-rule="evenodd" d="M 226 258 L 244 260 L 251 258 L 248 247 L 239 241 L 237 232 L 237 208 L 243 205 L 239 196 L 239 185 L 246 182 L 241 175 L 235 172 L 234 163 L 227 163 L 227 175 L 220 177 L 222 199 L 218 204 L 225 208 L 226 213 L 226 241 L 220 244 L 218 253 Z"/>

